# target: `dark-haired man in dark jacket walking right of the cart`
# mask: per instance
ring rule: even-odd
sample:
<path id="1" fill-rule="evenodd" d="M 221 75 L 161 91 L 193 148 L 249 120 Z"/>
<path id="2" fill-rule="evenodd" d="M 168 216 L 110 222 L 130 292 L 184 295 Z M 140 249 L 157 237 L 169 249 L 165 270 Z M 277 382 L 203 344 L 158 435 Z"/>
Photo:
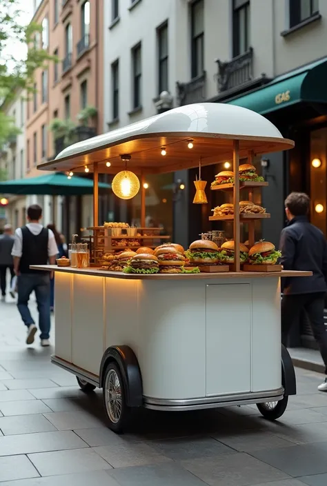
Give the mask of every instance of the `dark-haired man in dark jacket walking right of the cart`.
<path id="1" fill-rule="evenodd" d="M 303 192 L 292 192 L 286 198 L 288 225 L 281 232 L 279 248 L 284 270 L 309 270 L 308 277 L 282 279 L 281 340 L 286 340 L 301 310 L 306 310 L 313 334 L 326 366 L 326 378 L 319 385 L 327 392 L 327 333 L 324 325 L 324 303 L 327 291 L 327 244 L 324 234 L 308 221 L 310 198 Z"/>

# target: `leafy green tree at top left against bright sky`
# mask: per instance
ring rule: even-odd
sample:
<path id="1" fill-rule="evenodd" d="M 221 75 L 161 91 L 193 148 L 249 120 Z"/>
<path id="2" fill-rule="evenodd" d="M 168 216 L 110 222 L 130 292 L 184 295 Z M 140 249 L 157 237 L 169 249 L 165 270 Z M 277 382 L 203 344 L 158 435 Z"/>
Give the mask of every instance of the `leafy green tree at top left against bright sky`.
<path id="1" fill-rule="evenodd" d="M 0 0 L 0 146 L 17 133 L 13 120 L 3 112 L 3 103 L 10 103 L 20 89 L 31 93 L 34 71 L 57 61 L 35 42 L 41 37 L 42 27 L 34 22 L 21 25 L 22 12 L 15 4 L 17 0 Z M 10 45 L 17 45 L 14 53 L 8 49 Z M 22 51 L 26 51 L 23 59 L 16 54 Z"/>

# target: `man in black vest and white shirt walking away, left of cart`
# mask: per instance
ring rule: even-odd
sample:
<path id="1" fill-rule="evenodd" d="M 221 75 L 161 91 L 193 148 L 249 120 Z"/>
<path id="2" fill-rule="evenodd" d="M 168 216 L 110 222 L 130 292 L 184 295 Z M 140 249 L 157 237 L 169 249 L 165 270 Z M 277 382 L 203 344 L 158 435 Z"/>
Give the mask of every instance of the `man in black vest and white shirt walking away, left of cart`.
<path id="1" fill-rule="evenodd" d="M 39 221 L 42 208 L 33 204 L 28 207 L 28 224 L 17 228 L 14 235 L 12 256 L 14 257 L 14 272 L 17 275 L 18 303 L 17 307 L 28 327 L 27 344 L 34 343 L 37 327 L 28 308 L 30 294 L 35 292 L 37 310 L 39 311 L 39 329 L 41 331 L 41 346 L 49 346 L 50 333 L 50 274 L 30 270 L 30 265 L 54 264 L 58 248 L 51 230 L 43 227 Z"/>

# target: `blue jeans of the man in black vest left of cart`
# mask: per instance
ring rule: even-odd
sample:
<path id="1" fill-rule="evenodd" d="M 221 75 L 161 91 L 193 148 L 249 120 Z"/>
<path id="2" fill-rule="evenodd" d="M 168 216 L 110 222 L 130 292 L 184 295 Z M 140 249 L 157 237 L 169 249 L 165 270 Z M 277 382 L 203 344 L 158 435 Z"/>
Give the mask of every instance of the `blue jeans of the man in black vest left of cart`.
<path id="1" fill-rule="evenodd" d="M 48 273 L 21 274 L 17 279 L 18 303 L 17 307 L 27 326 L 34 324 L 28 308 L 28 300 L 33 290 L 37 298 L 39 311 L 40 338 L 48 339 L 50 332 L 50 275 Z"/>

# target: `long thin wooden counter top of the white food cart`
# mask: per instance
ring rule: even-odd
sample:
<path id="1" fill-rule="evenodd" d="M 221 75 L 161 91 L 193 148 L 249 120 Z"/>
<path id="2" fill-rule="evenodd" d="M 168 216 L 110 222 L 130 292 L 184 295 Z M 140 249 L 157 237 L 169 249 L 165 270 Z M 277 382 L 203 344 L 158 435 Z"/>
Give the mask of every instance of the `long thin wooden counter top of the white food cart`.
<path id="1" fill-rule="evenodd" d="M 63 272 L 68 274 L 81 274 L 92 276 L 106 276 L 111 279 L 126 280 L 194 280 L 194 279 L 262 279 L 271 277 L 286 276 L 311 276 L 312 272 L 295 272 L 293 270 L 283 270 L 282 272 L 221 272 L 221 273 L 201 273 L 201 274 L 124 274 L 123 272 L 109 272 L 101 268 L 72 268 L 57 267 L 57 265 L 31 265 L 32 270 L 47 270 L 48 272 Z"/>

